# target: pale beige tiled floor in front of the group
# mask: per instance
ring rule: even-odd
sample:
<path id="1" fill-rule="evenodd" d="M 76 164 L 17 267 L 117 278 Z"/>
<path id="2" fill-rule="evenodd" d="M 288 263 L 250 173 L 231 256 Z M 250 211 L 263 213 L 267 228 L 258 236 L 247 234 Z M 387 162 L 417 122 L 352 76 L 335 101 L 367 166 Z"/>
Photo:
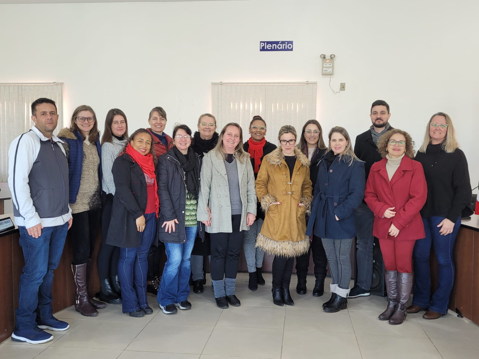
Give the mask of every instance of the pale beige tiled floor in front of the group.
<path id="1" fill-rule="evenodd" d="M 314 278 L 308 277 L 308 294 L 299 296 L 291 283 L 294 307 L 275 306 L 271 275 L 267 285 L 248 290 L 248 274 L 239 274 L 237 296 L 242 305 L 221 310 L 215 305 L 208 280 L 204 294 L 191 294 L 193 309 L 175 315 L 159 312 L 130 318 L 121 305 L 107 305 L 95 318 L 73 307 L 56 314 L 70 328 L 52 332 L 54 340 L 40 345 L 0 344 L 1 359 L 303 359 L 303 358 L 444 358 L 479 357 L 479 327 L 452 313 L 427 321 L 409 314 L 402 325 L 377 319 L 384 298 L 351 299 L 348 310 L 325 313 L 320 298 L 311 296 Z M 329 285 L 326 286 L 329 292 Z"/>

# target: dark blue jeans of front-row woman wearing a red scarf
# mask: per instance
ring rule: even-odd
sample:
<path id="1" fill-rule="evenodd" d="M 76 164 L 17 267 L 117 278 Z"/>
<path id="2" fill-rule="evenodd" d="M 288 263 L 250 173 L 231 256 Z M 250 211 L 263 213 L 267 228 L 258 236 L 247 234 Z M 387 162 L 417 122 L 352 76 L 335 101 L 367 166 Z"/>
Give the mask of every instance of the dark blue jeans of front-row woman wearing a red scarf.
<path id="1" fill-rule="evenodd" d="M 146 308 L 148 250 L 156 235 L 156 214 L 145 214 L 145 230 L 141 233 L 139 247 L 120 248 L 118 278 L 121 284 L 123 313 Z"/>

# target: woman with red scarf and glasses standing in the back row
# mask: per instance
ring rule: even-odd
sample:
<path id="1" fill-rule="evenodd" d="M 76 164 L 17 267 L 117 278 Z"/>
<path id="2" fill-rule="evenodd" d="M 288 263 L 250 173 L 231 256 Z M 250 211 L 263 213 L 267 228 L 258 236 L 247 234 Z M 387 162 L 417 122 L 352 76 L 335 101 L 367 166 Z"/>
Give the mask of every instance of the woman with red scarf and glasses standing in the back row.
<path id="1" fill-rule="evenodd" d="M 266 135 L 266 122 L 264 122 L 261 116 L 254 116 L 251 120 L 250 135 L 250 139 L 244 143 L 243 148 L 250 154 L 254 179 L 256 179 L 263 157 L 273 152 L 276 149 L 276 145 L 266 141 L 264 138 Z M 250 226 L 249 231 L 244 231 L 243 235 L 244 256 L 248 265 L 248 272 L 250 273 L 248 288 L 253 292 L 258 289 L 258 284 L 264 285 L 264 279 L 261 274 L 264 252 L 261 248 L 254 247 L 256 237 L 261 231 L 263 220 L 264 212 L 261 209 L 260 202 L 258 202 L 256 221 Z"/>

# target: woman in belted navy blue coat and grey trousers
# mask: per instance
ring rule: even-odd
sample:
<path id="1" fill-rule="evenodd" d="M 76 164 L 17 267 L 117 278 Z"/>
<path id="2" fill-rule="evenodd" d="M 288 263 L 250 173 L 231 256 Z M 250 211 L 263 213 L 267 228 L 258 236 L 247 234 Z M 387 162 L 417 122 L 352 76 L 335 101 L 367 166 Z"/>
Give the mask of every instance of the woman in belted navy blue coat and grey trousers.
<path id="1" fill-rule="evenodd" d="M 331 270 L 331 299 L 323 304 L 325 312 L 339 312 L 347 307 L 351 280 L 351 245 L 356 235 L 356 208 L 365 190 L 364 162 L 351 146 L 342 127 L 329 133 L 328 152 L 319 161 L 313 205 L 306 235 L 322 238 Z"/>

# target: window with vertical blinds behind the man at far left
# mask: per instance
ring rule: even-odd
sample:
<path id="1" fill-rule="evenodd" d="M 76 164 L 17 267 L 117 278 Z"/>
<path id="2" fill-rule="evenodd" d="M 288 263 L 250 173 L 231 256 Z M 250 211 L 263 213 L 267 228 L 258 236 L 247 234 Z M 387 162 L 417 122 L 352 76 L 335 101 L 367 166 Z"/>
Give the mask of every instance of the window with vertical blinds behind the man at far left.
<path id="1" fill-rule="evenodd" d="M 58 125 L 63 127 L 63 83 L 0 83 L 0 182 L 8 179 L 8 149 L 11 141 L 34 124 L 30 106 L 46 97 L 57 103 Z"/>

